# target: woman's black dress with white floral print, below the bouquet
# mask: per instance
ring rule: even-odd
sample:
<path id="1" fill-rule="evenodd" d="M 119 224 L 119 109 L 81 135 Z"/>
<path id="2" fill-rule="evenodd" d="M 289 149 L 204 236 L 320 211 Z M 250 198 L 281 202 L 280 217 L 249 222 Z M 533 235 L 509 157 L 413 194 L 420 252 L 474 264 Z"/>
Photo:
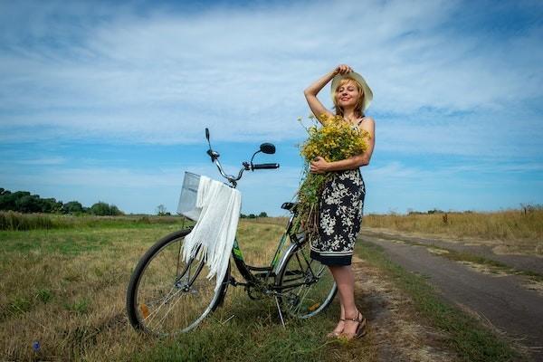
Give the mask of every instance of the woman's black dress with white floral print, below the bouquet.
<path id="1" fill-rule="evenodd" d="M 360 231 L 366 186 L 360 169 L 332 172 L 319 203 L 319 237 L 312 259 L 325 265 L 350 265 Z"/>

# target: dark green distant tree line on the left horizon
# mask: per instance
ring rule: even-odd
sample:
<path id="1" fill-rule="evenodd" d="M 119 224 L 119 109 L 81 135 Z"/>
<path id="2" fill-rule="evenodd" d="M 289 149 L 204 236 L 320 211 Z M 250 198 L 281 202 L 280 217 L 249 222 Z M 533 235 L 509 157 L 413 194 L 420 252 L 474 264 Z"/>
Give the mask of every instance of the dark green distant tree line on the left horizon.
<path id="1" fill-rule="evenodd" d="M 32 195 L 28 191 L 12 193 L 2 187 L 0 187 L 0 210 L 18 213 L 95 214 L 100 216 L 124 214 L 116 205 L 109 205 L 102 201 L 85 207 L 78 201 L 64 204 L 54 198 L 42 198 L 40 195 Z"/>

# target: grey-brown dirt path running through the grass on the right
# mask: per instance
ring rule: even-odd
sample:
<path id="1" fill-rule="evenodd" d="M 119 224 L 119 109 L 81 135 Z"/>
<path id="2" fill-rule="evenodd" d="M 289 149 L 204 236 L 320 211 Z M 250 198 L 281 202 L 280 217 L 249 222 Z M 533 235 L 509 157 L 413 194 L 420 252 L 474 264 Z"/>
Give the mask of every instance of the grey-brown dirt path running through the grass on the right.
<path id="1" fill-rule="evenodd" d="M 543 288 L 540 281 L 531 281 L 520 275 L 495 273 L 484 265 L 452 261 L 425 245 L 434 244 L 476 255 L 484 253 L 485 258 L 499 260 L 524 271 L 542 270 L 543 259 L 497 255 L 487 248 L 474 247 L 477 245 L 376 233 L 367 229 L 360 233 L 360 238 L 384 247 L 391 260 L 406 270 L 428 276 L 428 281 L 437 287 L 446 300 L 487 319 L 508 337 L 527 346 L 534 360 L 543 361 Z"/>

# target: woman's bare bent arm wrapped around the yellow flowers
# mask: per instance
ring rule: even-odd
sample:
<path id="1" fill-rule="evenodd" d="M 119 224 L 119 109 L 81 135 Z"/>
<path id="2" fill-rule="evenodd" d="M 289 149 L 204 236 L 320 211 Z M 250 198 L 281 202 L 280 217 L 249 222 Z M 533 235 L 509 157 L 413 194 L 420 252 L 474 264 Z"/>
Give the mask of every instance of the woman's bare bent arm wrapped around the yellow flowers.
<path id="1" fill-rule="evenodd" d="M 369 135 L 367 150 L 363 154 L 334 162 L 327 162 L 324 158 L 317 157 L 315 161 L 311 162 L 311 172 L 323 174 L 330 171 L 343 171 L 369 165 L 369 160 L 376 146 L 376 122 L 368 117 L 362 122 L 360 128 L 366 130 Z"/>

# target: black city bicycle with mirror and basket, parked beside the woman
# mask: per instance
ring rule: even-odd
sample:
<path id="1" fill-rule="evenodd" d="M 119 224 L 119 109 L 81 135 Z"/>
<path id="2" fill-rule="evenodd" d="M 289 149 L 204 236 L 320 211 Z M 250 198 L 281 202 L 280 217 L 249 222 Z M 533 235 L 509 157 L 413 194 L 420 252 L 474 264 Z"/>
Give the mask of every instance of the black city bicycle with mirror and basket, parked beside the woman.
<path id="1" fill-rule="evenodd" d="M 207 154 L 221 176 L 226 178 L 227 185 L 233 188 L 242 178 L 243 171 L 279 167 L 278 164 L 252 164 L 260 152 L 275 153 L 275 146 L 263 143 L 252 155 L 251 162 L 243 162 L 237 176 L 227 175 L 219 162 L 219 153 L 211 148 L 208 129 L 205 129 L 205 138 L 209 144 Z M 186 172 L 183 186 L 186 193 L 182 191 L 180 205 L 187 195 L 195 197 L 197 177 Z M 229 286 L 243 286 L 251 299 L 275 298 L 283 326 L 283 313 L 292 318 L 307 319 L 325 310 L 336 295 L 336 283 L 327 266 L 310 259 L 310 243 L 300 226 L 293 223 L 297 215 L 296 203 L 284 203 L 281 208 L 290 211 L 291 217 L 270 264 L 247 264 L 236 237 L 228 269 L 218 291 L 214 291 L 216 276 L 213 279 L 206 277 L 208 268 L 199 251 L 188 262 L 182 258 L 182 243 L 192 228 L 170 233 L 158 240 L 139 260 L 129 281 L 126 307 L 134 329 L 157 336 L 171 336 L 195 329 L 209 313 L 223 305 Z M 197 219 L 195 214 L 189 216 Z M 287 241 L 291 243 L 285 252 L 281 252 Z M 243 281 L 236 281 L 231 275 L 232 260 Z"/>

